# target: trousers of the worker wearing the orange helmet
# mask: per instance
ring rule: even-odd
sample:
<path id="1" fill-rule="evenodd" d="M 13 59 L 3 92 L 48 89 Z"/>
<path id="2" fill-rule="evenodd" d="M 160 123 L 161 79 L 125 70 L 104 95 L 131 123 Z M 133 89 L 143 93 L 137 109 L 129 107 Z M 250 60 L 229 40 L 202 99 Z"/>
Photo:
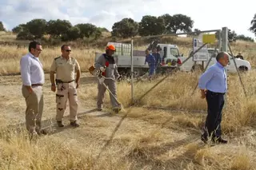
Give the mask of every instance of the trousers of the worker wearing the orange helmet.
<path id="1" fill-rule="evenodd" d="M 114 97 L 117 98 L 117 88 L 115 81 L 113 80 L 105 80 L 104 81 L 105 85 L 110 89 L 110 92 L 114 94 Z M 104 85 L 101 85 L 98 82 L 98 98 L 97 98 L 97 107 L 102 108 L 103 106 L 103 99 L 105 97 L 106 93 L 106 87 Z M 110 102 L 112 105 L 112 108 L 120 108 L 121 106 L 118 104 L 118 101 L 115 100 L 111 94 L 110 94 Z"/>

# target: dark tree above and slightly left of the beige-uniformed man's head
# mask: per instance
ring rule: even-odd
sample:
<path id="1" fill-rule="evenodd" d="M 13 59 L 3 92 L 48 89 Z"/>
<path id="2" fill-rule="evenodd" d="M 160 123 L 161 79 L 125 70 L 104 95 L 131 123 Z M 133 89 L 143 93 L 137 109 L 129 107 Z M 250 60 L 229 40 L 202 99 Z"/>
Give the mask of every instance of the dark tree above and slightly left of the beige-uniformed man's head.
<path id="1" fill-rule="evenodd" d="M 50 20 L 46 24 L 46 33 L 50 34 L 51 37 L 60 38 L 61 35 L 67 34 L 72 28 L 72 25 L 67 20 Z"/>

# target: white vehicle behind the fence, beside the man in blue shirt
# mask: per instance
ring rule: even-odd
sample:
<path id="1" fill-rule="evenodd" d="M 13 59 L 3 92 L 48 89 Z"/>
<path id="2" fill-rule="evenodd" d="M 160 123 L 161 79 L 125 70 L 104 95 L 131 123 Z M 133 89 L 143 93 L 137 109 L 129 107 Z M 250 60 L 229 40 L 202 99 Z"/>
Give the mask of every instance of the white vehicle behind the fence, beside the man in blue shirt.
<path id="1" fill-rule="evenodd" d="M 211 48 L 208 48 L 207 49 L 208 52 L 203 52 L 203 53 L 208 53 L 208 59 L 207 61 L 204 61 L 204 64 L 202 64 L 202 61 L 197 61 L 196 65 L 193 61 L 193 57 L 190 57 L 190 59 L 188 61 L 186 61 L 186 63 L 183 63 L 183 65 L 180 67 L 180 70 L 182 71 L 191 71 L 191 70 L 194 70 L 194 69 L 206 69 L 206 65 L 208 63 L 208 61 L 210 60 L 210 57 L 213 56 L 211 58 L 211 61 L 210 61 L 210 64 L 208 65 L 208 68 L 210 67 L 210 65 L 214 65 L 216 63 L 216 55 L 218 53 L 218 49 L 211 49 Z M 199 50 L 200 51 L 200 50 Z M 190 51 L 190 54 L 192 53 L 192 51 Z M 230 54 L 230 53 L 229 53 Z M 179 57 L 179 59 L 181 61 L 184 61 L 186 60 L 186 57 Z M 249 61 L 246 61 L 246 60 L 242 60 L 240 58 L 234 58 L 235 59 L 235 62 L 238 66 L 238 70 L 239 71 L 248 71 L 251 69 L 251 65 L 250 65 L 250 62 Z M 230 72 L 230 73 L 236 73 L 236 68 L 235 68 L 235 65 L 234 65 L 234 60 L 233 60 L 233 57 L 232 55 L 230 54 L 230 62 L 229 62 L 229 65 L 227 65 L 226 67 L 227 71 Z"/>

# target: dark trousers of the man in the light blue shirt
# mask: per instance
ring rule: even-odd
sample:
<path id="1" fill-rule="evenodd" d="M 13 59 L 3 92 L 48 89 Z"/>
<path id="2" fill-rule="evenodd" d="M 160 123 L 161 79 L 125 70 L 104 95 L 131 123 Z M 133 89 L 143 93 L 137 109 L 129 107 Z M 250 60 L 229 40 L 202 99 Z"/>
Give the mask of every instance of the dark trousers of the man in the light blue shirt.
<path id="1" fill-rule="evenodd" d="M 206 101 L 208 106 L 208 114 L 206 117 L 206 125 L 203 136 L 207 139 L 212 136 L 221 136 L 222 108 L 224 105 L 224 93 L 206 92 Z"/>

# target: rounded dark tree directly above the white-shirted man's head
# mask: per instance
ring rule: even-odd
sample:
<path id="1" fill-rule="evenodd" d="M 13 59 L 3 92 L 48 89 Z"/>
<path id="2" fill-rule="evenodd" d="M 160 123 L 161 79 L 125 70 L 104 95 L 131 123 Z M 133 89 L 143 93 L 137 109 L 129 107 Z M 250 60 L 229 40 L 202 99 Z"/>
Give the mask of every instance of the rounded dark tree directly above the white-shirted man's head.
<path id="1" fill-rule="evenodd" d="M 34 38 L 42 38 L 46 34 L 46 24 L 45 19 L 33 19 L 26 23 L 26 29 L 34 35 Z"/>

